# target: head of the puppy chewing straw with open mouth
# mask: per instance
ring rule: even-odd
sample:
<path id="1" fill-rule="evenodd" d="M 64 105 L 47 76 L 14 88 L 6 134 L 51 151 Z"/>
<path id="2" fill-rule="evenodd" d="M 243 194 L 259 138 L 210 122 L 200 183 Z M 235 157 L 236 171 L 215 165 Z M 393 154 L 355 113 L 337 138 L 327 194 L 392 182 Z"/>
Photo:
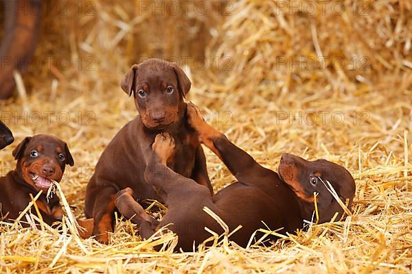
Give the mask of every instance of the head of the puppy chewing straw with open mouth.
<path id="1" fill-rule="evenodd" d="M 24 138 L 14 149 L 13 156 L 21 178 L 43 192 L 52 186 L 52 180 L 60 182 L 66 164 L 74 164 L 66 142 L 44 134 Z"/>

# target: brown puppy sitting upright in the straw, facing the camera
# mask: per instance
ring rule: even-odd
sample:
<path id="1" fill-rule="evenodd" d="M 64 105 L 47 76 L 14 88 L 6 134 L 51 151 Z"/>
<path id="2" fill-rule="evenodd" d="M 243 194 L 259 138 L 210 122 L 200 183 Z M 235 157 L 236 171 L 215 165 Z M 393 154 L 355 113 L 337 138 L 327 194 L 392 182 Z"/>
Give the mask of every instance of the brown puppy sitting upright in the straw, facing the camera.
<path id="1" fill-rule="evenodd" d="M 104 149 L 86 190 L 86 216 L 93 217 L 93 235 L 104 243 L 108 242 L 106 232 L 113 231 L 115 195 L 119 190 L 130 187 L 137 200 L 162 201 L 144 179 L 152 158 L 150 146 L 161 132 L 169 132 L 176 142 L 167 162 L 170 169 L 205 186 L 209 195 L 213 193 L 205 154 L 185 118 L 187 105 L 183 99 L 191 82 L 183 70 L 174 63 L 150 59 L 133 65 L 121 86 L 129 96 L 133 95 L 139 115 Z"/>

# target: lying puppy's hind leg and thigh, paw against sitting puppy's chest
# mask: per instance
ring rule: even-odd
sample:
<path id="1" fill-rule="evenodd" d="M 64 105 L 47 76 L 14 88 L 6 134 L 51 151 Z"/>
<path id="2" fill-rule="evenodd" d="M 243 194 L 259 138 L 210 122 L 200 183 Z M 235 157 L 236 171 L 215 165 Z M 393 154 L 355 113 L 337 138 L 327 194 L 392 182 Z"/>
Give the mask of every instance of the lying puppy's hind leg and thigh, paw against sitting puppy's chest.
<path id="1" fill-rule="evenodd" d="M 163 216 L 159 226 L 170 225 L 169 229 L 179 236 L 177 248 L 190 251 L 194 242 L 197 245 L 209 238 L 205 227 L 219 234 L 223 231 L 216 220 L 204 211 L 207 207 L 219 214 L 209 189 L 165 165 L 173 148 L 174 142 L 169 134 L 156 136 L 152 145 L 152 160 L 146 167 L 145 177 L 168 205 L 168 213 Z"/>

